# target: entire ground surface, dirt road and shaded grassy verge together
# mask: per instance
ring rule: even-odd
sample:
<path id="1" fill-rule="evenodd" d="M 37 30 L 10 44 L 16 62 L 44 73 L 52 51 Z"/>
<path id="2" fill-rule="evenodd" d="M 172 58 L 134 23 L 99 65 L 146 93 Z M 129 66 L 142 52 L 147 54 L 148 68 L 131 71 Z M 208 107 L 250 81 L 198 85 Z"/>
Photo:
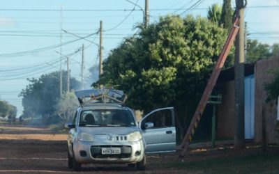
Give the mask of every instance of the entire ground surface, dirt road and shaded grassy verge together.
<path id="1" fill-rule="evenodd" d="M 66 137 L 45 127 L 0 125 L 0 173 L 74 173 L 67 167 Z M 89 164 L 78 173 L 279 173 L 278 166 L 276 145 L 265 153 L 257 145 L 238 151 L 228 145 L 192 149 L 183 161 L 178 153 L 149 156 L 146 171 Z"/>

